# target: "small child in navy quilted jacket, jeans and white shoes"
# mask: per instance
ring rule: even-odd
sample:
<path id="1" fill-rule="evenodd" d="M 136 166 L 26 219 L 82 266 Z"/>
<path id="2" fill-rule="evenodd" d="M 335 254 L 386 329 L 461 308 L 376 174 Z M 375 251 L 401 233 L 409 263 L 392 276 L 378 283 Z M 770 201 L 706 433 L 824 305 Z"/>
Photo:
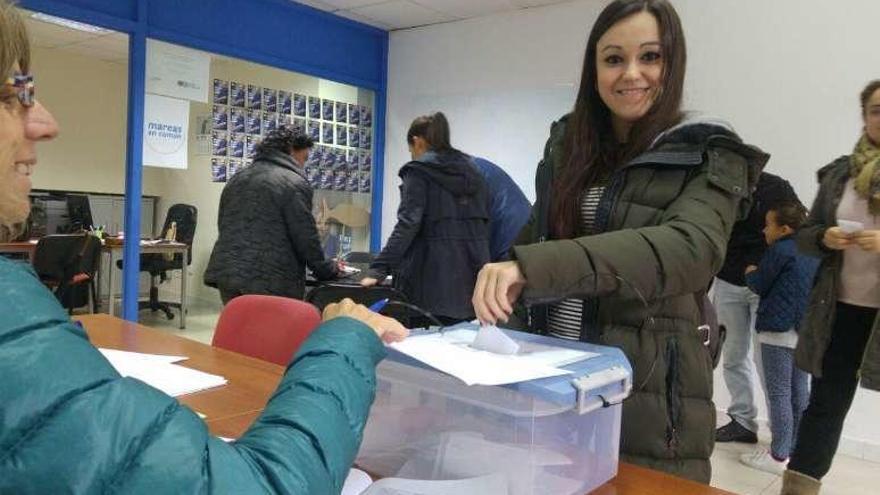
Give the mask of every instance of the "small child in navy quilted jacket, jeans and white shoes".
<path id="1" fill-rule="evenodd" d="M 761 298 L 755 330 L 761 345 L 772 442 L 769 451 L 743 454 L 740 461 L 776 475 L 785 471 L 810 396 L 807 373 L 794 362 L 798 325 L 819 267 L 819 259 L 799 253 L 794 240 L 806 220 L 806 208 L 800 203 L 782 203 L 769 210 L 764 238 L 770 247 L 758 266 L 746 268 L 745 275 L 749 289 Z"/>

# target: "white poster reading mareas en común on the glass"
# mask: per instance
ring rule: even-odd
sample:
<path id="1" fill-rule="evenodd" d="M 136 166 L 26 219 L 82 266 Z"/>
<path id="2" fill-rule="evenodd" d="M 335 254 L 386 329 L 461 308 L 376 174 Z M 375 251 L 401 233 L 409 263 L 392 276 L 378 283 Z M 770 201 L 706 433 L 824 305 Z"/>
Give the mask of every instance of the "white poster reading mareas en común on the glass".
<path id="1" fill-rule="evenodd" d="M 189 102 L 147 94 L 144 100 L 144 165 L 185 169 Z"/>

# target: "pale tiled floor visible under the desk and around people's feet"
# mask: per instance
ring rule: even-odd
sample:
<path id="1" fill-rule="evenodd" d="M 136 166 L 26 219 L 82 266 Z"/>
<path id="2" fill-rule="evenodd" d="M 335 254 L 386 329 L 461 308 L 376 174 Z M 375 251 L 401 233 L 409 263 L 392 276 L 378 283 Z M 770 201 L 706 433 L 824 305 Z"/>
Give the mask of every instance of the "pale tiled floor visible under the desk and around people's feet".
<path id="1" fill-rule="evenodd" d="M 220 305 L 193 302 L 187 316 L 186 330 L 177 328 L 177 316 L 167 320 L 163 313 L 141 312 L 141 323 L 175 335 L 211 343 L 217 324 Z M 726 418 L 722 418 L 726 419 Z M 763 439 L 765 442 L 767 439 Z M 743 495 L 776 495 L 780 478 L 743 466 L 740 454 L 751 452 L 754 446 L 743 444 L 718 444 L 712 455 L 712 485 Z M 880 493 L 880 464 L 838 455 L 831 473 L 825 479 L 822 495 L 876 495 Z"/>

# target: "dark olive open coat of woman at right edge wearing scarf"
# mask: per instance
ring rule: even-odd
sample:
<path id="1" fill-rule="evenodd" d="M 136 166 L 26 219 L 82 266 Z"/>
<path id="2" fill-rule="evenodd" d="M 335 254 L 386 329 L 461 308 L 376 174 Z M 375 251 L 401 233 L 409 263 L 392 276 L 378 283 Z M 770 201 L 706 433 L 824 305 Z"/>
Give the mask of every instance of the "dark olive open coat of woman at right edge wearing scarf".
<path id="1" fill-rule="evenodd" d="M 819 192 L 810 209 L 810 218 L 798 231 L 796 240 L 801 252 L 822 259 L 816 272 L 816 283 L 810 293 L 810 304 L 801 321 L 795 359 L 799 368 L 813 376 L 822 376 L 825 351 L 831 343 L 837 296 L 840 291 L 840 270 L 843 254 L 822 244 L 825 231 L 837 225 L 837 207 L 850 178 L 849 156 L 842 156 L 819 170 Z M 880 390 L 880 315 L 874 320 L 871 338 L 865 348 L 859 370 L 862 386 Z"/>

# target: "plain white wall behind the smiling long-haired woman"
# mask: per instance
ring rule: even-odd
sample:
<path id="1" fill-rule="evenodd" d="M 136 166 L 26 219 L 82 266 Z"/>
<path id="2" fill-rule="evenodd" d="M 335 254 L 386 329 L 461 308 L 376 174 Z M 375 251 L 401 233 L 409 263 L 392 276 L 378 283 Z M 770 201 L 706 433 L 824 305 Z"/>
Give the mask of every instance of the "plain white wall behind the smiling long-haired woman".
<path id="1" fill-rule="evenodd" d="M 674 3 L 688 41 L 687 108 L 733 123 L 773 155 L 769 171 L 812 201 L 814 171 L 849 153 L 858 93 L 880 77 L 880 2 Z M 406 130 L 430 111 L 447 114 L 455 146 L 496 161 L 534 198 L 549 125 L 573 105 L 588 31 L 604 5 L 573 1 L 391 34 L 383 239 L 400 200 Z M 726 390 L 716 385 L 724 408 Z M 880 461 L 878 410 L 880 395 L 859 391 L 842 451 Z"/>

